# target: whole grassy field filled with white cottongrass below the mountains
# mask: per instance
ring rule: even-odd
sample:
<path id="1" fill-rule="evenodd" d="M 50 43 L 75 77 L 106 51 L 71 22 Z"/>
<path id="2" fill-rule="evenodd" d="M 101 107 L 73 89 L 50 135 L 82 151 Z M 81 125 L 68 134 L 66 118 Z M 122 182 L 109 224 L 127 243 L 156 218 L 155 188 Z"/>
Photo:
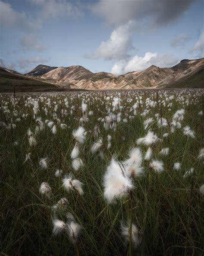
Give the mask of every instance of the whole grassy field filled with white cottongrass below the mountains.
<path id="1" fill-rule="evenodd" d="M 204 254 L 203 90 L 0 99 L 2 255 Z"/>

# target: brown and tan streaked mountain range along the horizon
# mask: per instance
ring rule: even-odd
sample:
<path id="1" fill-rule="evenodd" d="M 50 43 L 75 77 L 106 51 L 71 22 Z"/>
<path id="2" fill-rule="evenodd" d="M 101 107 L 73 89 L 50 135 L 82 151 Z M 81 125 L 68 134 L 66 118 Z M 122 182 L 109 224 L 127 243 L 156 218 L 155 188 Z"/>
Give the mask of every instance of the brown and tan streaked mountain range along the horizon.
<path id="1" fill-rule="evenodd" d="M 182 60 L 173 67 L 151 65 L 124 75 L 92 73 L 82 66 L 38 65 L 27 74 L 0 67 L 0 91 L 67 91 L 204 87 L 204 58 Z"/>

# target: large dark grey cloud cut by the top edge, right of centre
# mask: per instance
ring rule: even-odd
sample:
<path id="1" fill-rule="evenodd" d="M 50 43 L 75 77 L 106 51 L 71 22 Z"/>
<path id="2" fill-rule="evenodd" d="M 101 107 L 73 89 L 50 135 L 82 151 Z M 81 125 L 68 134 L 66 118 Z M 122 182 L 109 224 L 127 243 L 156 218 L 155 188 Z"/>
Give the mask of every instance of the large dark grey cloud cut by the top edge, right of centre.
<path id="1" fill-rule="evenodd" d="M 179 18 L 194 0 L 99 0 L 91 6 L 93 13 L 105 18 L 111 26 L 120 26 L 130 19 L 150 17 L 152 24 L 164 26 Z"/>

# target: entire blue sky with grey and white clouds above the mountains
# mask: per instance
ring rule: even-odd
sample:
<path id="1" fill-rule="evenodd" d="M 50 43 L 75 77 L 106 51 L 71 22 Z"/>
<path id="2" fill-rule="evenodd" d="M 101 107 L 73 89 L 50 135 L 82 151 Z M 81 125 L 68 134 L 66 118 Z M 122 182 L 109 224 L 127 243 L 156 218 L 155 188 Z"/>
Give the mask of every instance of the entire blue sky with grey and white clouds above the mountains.
<path id="1" fill-rule="evenodd" d="M 0 0 L 0 66 L 120 75 L 204 57 L 204 0 Z"/>

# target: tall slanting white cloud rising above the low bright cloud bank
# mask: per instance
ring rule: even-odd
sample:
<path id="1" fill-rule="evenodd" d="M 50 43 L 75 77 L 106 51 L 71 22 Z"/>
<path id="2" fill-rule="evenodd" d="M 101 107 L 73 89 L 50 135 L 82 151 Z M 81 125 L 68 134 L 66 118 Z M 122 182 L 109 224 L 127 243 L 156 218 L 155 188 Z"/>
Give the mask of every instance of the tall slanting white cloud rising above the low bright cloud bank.
<path id="1" fill-rule="evenodd" d="M 85 58 L 104 58 L 105 60 L 120 60 L 128 57 L 128 51 L 133 49 L 131 33 L 136 29 L 133 21 L 113 30 L 107 41 L 101 42 L 96 51 Z"/>

